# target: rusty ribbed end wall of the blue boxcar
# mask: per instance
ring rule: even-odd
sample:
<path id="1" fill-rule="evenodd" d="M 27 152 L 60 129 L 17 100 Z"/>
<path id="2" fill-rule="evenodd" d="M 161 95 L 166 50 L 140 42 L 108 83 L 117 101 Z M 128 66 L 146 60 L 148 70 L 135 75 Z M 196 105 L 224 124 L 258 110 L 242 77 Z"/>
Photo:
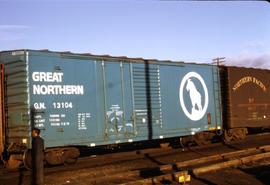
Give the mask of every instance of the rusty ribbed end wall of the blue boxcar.
<path id="1" fill-rule="evenodd" d="M 30 142 L 30 109 L 28 62 L 26 51 L 4 52 L 0 61 L 5 66 L 6 78 L 6 142 Z"/>

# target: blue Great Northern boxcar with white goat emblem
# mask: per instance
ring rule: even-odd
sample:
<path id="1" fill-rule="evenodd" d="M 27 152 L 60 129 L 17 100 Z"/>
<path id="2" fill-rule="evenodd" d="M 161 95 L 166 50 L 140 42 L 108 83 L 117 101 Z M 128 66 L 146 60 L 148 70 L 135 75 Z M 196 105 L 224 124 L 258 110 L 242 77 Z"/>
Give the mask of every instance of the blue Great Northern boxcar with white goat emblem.
<path id="1" fill-rule="evenodd" d="M 0 61 L 1 153 L 9 156 L 31 148 L 33 127 L 41 130 L 47 162 L 57 164 L 59 155 L 77 156 L 70 146 L 181 137 L 222 126 L 217 66 L 35 50 L 1 52 Z"/>

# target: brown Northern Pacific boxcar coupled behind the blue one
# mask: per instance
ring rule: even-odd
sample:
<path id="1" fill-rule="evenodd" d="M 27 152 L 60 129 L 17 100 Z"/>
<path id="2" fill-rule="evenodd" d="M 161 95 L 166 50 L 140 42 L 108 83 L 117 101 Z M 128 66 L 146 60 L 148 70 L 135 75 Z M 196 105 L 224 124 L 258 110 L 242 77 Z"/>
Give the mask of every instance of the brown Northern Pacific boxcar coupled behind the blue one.
<path id="1" fill-rule="evenodd" d="M 270 127 L 270 71 L 220 69 L 225 140 L 244 138 L 248 128 Z"/>

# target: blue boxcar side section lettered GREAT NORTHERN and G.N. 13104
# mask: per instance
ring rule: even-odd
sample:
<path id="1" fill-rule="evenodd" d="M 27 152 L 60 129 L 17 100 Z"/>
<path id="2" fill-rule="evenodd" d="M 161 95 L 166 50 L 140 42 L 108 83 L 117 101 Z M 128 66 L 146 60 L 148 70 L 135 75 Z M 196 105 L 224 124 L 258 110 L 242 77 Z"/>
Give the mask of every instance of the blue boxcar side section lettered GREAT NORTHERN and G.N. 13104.
<path id="1" fill-rule="evenodd" d="M 31 105 L 46 147 L 97 140 L 96 62 L 32 54 Z"/>

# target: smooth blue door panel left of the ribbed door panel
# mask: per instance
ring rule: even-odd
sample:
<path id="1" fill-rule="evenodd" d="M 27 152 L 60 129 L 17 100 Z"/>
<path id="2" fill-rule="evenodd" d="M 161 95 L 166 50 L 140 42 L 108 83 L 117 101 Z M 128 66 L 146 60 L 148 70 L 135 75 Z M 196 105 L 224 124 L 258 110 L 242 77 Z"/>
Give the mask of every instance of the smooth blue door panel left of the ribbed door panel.
<path id="1" fill-rule="evenodd" d="M 134 134 L 129 64 L 121 61 L 102 63 L 105 130 L 108 142 L 127 142 Z"/>

